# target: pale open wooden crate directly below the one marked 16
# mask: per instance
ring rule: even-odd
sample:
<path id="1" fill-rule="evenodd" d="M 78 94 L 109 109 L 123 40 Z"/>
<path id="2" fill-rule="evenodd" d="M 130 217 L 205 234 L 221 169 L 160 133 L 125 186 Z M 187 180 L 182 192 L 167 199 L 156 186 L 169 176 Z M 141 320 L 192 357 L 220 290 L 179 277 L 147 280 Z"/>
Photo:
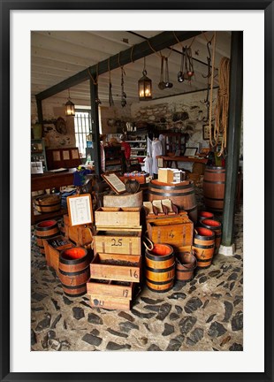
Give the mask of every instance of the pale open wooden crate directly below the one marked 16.
<path id="1" fill-rule="evenodd" d="M 130 281 L 89 279 L 87 283 L 87 293 L 132 300 L 134 285 L 135 283 Z"/>

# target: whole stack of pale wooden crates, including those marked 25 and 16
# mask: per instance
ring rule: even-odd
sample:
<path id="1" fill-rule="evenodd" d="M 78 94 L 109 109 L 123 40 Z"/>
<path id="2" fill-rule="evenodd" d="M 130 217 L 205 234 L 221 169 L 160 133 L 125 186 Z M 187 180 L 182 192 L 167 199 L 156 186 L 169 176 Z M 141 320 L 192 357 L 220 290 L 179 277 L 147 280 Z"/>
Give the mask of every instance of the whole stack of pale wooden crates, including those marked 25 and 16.
<path id="1" fill-rule="evenodd" d="M 93 307 L 130 309 L 141 280 L 141 209 L 102 207 L 95 211 L 95 257 L 87 291 Z"/>

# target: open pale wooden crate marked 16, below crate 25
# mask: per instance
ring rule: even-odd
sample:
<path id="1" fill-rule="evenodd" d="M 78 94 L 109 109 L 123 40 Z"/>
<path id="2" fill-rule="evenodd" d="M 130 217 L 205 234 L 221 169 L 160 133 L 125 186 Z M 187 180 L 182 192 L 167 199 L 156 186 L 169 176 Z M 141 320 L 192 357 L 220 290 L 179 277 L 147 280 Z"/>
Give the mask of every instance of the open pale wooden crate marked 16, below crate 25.
<path id="1" fill-rule="evenodd" d="M 141 256 L 97 253 L 90 264 L 90 278 L 140 282 Z"/>

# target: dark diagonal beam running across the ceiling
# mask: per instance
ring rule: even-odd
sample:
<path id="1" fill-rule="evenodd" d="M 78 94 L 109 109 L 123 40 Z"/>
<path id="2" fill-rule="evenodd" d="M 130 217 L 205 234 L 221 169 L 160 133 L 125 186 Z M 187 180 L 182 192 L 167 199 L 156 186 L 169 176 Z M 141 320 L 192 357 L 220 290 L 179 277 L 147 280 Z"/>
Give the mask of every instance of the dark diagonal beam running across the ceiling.
<path id="1" fill-rule="evenodd" d="M 53 87 L 38 93 L 35 95 L 36 100 L 42 101 L 43 99 L 49 98 L 52 95 L 56 95 L 57 93 L 64 91 L 67 88 L 72 88 L 73 86 L 76 86 L 85 80 L 89 80 L 90 74 L 95 79 L 97 73 L 98 75 L 107 73 L 109 70 L 113 70 L 119 66 L 129 64 L 142 57 L 147 57 L 156 51 L 164 50 L 164 48 L 175 45 L 178 43 L 178 41 L 181 42 L 187 40 L 198 34 L 201 34 L 201 31 L 176 31 L 176 36 L 171 31 L 156 34 L 156 36 L 151 37 L 147 41 L 133 45 L 132 48 L 123 50 L 118 54 L 99 62 L 97 65 L 89 66 L 87 69 L 81 71 L 80 73 L 74 74 L 72 77 L 63 80 L 57 85 L 54 85 Z"/>

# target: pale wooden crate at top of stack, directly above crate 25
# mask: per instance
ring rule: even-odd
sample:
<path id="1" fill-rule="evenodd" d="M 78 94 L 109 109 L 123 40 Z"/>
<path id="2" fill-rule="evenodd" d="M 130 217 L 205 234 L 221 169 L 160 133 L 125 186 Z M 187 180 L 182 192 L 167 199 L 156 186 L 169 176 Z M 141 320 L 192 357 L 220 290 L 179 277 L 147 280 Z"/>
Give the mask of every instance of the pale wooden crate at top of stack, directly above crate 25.
<path id="1" fill-rule="evenodd" d="M 101 207 L 95 210 L 97 230 L 111 227 L 141 229 L 140 211 L 138 207 Z"/>

